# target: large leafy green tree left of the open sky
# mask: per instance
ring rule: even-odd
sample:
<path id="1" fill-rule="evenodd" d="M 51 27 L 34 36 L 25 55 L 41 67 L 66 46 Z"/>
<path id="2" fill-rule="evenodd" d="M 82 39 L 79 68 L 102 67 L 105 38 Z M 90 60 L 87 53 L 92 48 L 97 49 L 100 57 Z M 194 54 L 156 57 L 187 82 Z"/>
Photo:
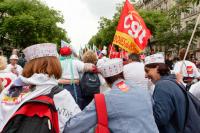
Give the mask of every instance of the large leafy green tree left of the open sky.
<path id="1" fill-rule="evenodd" d="M 43 42 L 69 42 L 60 12 L 38 0 L 3 0 L 0 2 L 0 43 L 25 48 Z"/>

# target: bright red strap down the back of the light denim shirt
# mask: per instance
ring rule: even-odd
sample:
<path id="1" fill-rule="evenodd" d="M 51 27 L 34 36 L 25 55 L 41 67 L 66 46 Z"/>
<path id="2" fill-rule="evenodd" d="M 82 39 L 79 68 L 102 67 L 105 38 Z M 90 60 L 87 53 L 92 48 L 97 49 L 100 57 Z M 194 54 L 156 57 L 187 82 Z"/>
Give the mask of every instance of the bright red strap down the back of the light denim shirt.
<path id="1" fill-rule="evenodd" d="M 108 116 L 105 97 L 103 94 L 95 94 L 94 98 L 98 120 L 95 133 L 110 133 L 108 129 Z"/>

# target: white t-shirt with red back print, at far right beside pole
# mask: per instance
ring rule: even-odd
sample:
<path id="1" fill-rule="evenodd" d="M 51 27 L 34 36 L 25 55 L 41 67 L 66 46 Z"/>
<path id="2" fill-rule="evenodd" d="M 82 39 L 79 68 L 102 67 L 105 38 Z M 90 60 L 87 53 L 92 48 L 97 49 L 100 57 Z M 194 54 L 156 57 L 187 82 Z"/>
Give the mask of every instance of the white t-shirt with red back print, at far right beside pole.
<path id="1" fill-rule="evenodd" d="M 173 69 L 175 74 L 180 72 L 182 62 L 183 61 L 175 63 Z M 188 60 L 185 60 L 185 62 L 183 63 L 182 74 L 183 77 L 200 77 L 200 73 L 198 72 L 196 65 Z"/>

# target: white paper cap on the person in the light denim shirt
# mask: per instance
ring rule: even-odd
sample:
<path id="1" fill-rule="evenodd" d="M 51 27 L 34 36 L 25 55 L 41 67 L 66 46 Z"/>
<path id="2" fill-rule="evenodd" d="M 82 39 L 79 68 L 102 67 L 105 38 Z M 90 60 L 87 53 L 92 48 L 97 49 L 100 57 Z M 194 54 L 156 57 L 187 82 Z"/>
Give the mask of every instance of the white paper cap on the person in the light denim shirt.
<path id="1" fill-rule="evenodd" d="M 109 59 L 97 67 L 103 77 L 112 77 L 123 71 L 123 61 L 120 58 Z"/>

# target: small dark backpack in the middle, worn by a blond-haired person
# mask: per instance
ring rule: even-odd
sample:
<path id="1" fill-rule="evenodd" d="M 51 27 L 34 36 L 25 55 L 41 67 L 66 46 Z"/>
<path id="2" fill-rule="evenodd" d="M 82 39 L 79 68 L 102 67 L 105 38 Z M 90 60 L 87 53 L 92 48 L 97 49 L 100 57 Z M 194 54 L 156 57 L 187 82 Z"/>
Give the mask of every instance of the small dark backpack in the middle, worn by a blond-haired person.
<path id="1" fill-rule="evenodd" d="M 93 97 L 100 93 L 100 80 L 97 73 L 85 72 L 80 81 L 82 95 L 84 97 Z"/>

